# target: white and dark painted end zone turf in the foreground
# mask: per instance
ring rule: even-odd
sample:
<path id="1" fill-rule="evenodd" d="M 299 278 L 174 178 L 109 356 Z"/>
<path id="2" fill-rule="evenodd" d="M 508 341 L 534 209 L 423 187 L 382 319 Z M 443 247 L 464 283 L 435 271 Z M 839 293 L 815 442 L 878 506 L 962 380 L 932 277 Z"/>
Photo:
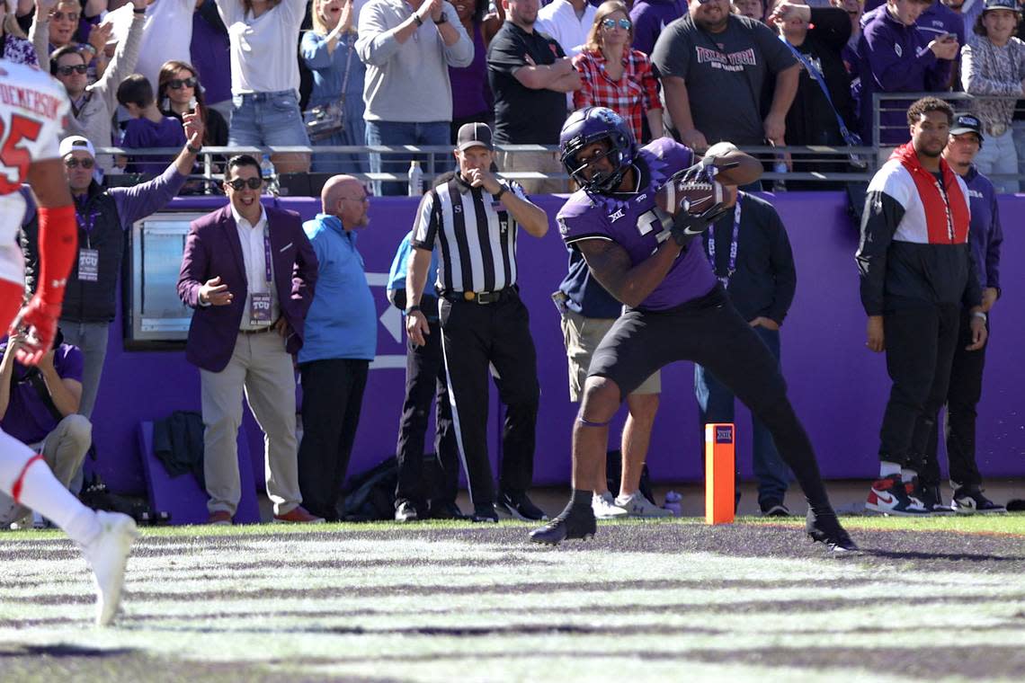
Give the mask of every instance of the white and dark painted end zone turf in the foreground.
<path id="1" fill-rule="evenodd" d="M 148 529 L 118 627 L 58 532 L 0 536 L 3 681 L 1025 680 L 1025 516 Z"/>

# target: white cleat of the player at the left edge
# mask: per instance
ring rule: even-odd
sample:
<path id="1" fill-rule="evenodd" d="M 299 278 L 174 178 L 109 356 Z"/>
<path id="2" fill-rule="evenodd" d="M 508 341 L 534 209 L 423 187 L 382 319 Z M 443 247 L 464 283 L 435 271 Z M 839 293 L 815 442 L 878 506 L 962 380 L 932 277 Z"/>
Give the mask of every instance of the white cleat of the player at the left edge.
<path id="1" fill-rule="evenodd" d="M 125 582 L 125 564 L 132 541 L 138 538 L 135 520 L 120 512 L 96 511 L 96 521 L 102 527 L 92 543 L 82 548 L 92 567 L 96 587 L 96 626 L 114 621 L 121 604 L 121 589 Z"/>

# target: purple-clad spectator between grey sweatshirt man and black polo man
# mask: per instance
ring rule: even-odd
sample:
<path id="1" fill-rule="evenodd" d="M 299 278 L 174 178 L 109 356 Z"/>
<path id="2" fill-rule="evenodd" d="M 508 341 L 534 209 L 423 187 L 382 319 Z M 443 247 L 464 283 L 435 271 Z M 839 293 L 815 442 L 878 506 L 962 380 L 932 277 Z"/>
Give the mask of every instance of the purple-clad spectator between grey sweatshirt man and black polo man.
<path id="1" fill-rule="evenodd" d="M 505 10 L 498 3 L 497 11 L 485 14 L 487 0 L 456 0 L 455 12 L 474 41 L 474 60 L 468 67 L 449 67 L 452 82 L 452 143 L 465 123 L 490 124 L 495 118 L 494 97 L 488 86 L 488 45 L 505 20 Z"/>

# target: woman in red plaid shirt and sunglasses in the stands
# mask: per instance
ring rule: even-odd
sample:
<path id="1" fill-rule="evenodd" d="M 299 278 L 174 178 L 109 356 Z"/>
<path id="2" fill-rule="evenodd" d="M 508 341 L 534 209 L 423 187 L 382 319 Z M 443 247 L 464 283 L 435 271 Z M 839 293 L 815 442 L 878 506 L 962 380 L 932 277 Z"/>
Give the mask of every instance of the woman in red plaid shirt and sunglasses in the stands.
<path id="1" fill-rule="evenodd" d="M 607 106 L 629 122 L 634 140 L 647 142 L 645 119 L 652 137 L 665 135 L 662 102 L 648 55 L 630 48 L 633 25 L 627 16 L 619 0 L 598 8 L 584 49 L 573 57 L 581 82 L 573 92 L 573 108 Z"/>

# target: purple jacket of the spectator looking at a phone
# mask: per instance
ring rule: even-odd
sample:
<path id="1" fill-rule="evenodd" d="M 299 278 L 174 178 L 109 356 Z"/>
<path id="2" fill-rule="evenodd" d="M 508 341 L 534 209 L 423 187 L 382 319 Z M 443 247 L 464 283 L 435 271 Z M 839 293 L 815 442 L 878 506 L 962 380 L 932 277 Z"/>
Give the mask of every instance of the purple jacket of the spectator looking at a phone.
<path id="1" fill-rule="evenodd" d="M 861 135 L 872 139 L 872 94 L 876 92 L 939 92 L 946 90 L 953 61 L 937 59 L 926 46 L 935 34 L 904 26 L 880 8 L 868 20 L 858 41 L 858 76 L 861 79 Z M 888 100 L 879 141 L 900 144 L 909 139 L 907 115 L 910 101 Z"/>

